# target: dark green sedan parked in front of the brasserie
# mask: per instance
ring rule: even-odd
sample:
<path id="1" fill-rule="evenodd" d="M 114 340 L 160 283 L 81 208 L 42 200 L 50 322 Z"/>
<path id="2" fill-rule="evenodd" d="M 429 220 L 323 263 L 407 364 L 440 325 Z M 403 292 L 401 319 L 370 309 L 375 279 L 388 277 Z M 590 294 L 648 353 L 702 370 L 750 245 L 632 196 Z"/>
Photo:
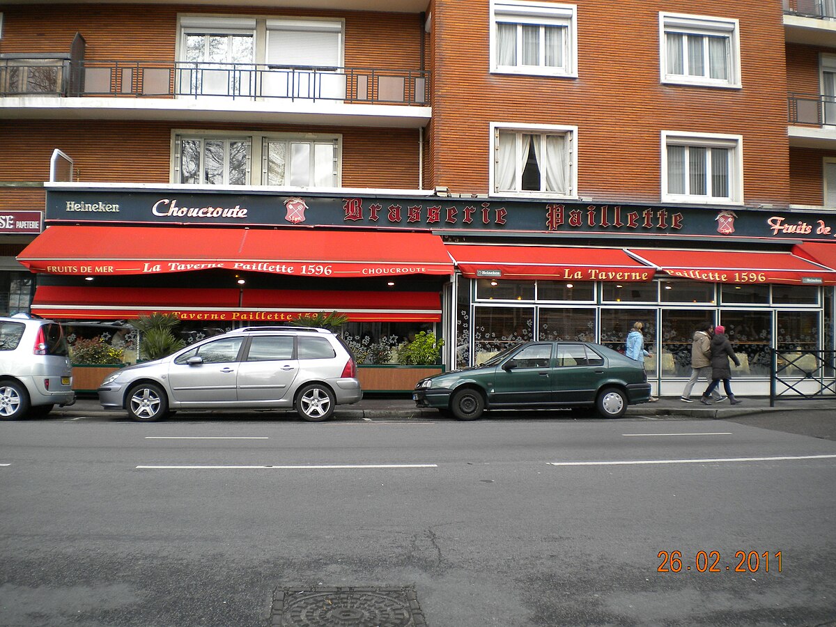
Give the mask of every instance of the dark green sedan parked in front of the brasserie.
<path id="1" fill-rule="evenodd" d="M 484 364 L 422 379 L 412 399 L 460 421 L 485 410 L 595 409 L 620 418 L 650 400 L 644 365 L 589 342 L 523 342 Z"/>

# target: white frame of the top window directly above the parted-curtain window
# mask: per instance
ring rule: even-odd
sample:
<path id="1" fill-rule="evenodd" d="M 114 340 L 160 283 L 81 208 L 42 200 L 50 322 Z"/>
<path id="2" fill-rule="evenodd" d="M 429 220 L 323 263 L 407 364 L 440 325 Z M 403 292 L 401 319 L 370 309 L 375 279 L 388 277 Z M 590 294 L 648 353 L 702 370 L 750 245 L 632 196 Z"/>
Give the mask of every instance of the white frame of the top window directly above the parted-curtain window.
<path id="1" fill-rule="evenodd" d="M 512 18 L 516 23 L 565 28 L 563 67 L 546 65 L 499 65 L 497 22 Z M 491 72 L 495 74 L 525 74 L 535 76 L 578 77 L 578 8 L 573 4 L 530 2 L 529 0 L 491 0 L 490 30 Z M 520 42 L 517 42 L 519 59 Z"/>

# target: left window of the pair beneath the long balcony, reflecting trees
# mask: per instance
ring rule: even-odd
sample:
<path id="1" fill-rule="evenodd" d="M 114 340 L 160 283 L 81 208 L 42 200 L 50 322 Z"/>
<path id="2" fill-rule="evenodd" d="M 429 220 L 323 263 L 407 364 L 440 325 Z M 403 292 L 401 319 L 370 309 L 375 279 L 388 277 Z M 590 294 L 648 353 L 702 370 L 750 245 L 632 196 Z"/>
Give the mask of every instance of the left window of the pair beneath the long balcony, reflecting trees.
<path id="1" fill-rule="evenodd" d="M 247 137 L 178 136 L 176 182 L 196 185 L 249 184 L 250 143 Z"/>

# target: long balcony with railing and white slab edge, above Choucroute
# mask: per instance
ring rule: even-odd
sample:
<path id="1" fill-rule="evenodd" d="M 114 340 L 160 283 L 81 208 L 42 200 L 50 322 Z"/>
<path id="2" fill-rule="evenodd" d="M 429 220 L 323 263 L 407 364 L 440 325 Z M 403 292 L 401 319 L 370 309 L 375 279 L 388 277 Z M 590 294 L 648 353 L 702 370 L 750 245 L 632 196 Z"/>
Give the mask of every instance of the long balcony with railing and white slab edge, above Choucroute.
<path id="1" fill-rule="evenodd" d="M 0 58 L 5 117 L 23 117 L 22 110 L 27 117 L 88 110 L 98 119 L 205 121 L 275 114 L 278 122 L 407 127 L 430 117 L 429 73 L 418 69 L 10 56 Z"/>

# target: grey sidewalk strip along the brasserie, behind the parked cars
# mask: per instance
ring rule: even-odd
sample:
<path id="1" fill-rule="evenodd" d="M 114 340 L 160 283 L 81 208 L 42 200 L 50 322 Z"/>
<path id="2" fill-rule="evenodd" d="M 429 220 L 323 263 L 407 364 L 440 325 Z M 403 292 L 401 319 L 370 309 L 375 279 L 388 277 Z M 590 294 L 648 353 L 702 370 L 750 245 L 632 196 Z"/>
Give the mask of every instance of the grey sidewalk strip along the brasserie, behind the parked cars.
<path id="1" fill-rule="evenodd" d="M 711 405 L 702 405 L 699 397 L 693 397 L 693 403 L 683 403 L 679 396 L 660 398 L 656 403 L 643 403 L 642 405 L 631 405 L 627 410 L 627 416 L 659 416 L 675 418 L 703 418 L 708 420 L 733 418 L 738 415 L 752 415 L 772 411 L 804 411 L 804 410 L 836 410 L 836 397 L 828 399 L 803 400 L 784 397 L 786 400 L 776 400 L 775 406 L 769 406 L 768 397 L 739 397 L 743 402 L 741 405 L 730 405 L 728 400 Z M 217 412 L 230 413 L 230 412 Z M 252 413 L 242 411 L 242 414 Z M 263 415 L 263 412 L 257 412 Z M 528 411 L 534 414 L 534 411 Z M 542 415 L 543 411 L 536 412 Z M 69 407 L 56 407 L 51 416 L 64 416 L 68 418 L 127 418 L 125 411 L 104 410 L 99 405 L 99 400 L 94 397 L 84 397 L 76 400 L 75 405 Z M 497 411 L 498 415 L 512 415 L 511 412 Z M 486 414 L 490 417 L 490 413 Z M 334 420 L 436 420 L 441 415 L 436 410 L 421 409 L 415 407 L 415 403 L 408 397 L 380 398 L 368 396 L 354 405 L 338 405 L 334 410 Z M 442 419 L 446 420 L 446 419 Z"/>

